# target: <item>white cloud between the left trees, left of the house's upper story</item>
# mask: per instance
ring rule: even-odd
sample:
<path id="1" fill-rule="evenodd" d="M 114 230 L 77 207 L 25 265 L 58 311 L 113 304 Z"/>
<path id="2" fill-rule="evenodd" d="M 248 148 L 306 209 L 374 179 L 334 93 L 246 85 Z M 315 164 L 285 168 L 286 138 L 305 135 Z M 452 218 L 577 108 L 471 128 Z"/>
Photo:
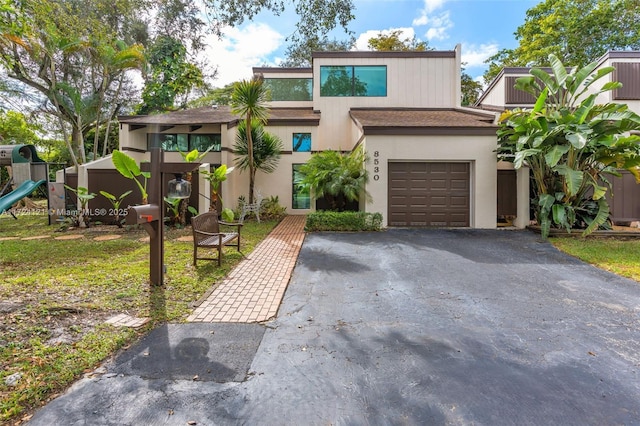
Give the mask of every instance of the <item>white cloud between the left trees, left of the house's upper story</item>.
<path id="1" fill-rule="evenodd" d="M 222 87 L 251 78 L 252 68 L 276 63 L 269 57 L 282 45 L 284 36 L 267 24 L 250 23 L 243 28 L 224 28 L 223 38 L 209 36 L 205 58 L 218 67 L 214 85 Z"/>

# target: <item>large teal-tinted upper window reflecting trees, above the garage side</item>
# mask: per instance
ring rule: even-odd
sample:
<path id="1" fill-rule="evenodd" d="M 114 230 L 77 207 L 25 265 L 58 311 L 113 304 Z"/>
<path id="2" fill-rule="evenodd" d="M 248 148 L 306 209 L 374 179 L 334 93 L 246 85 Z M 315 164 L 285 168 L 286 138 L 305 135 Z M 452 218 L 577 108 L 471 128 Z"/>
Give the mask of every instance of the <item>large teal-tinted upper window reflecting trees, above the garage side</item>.
<path id="1" fill-rule="evenodd" d="M 320 96 L 387 96 L 387 67 L 321 66 Z"/>

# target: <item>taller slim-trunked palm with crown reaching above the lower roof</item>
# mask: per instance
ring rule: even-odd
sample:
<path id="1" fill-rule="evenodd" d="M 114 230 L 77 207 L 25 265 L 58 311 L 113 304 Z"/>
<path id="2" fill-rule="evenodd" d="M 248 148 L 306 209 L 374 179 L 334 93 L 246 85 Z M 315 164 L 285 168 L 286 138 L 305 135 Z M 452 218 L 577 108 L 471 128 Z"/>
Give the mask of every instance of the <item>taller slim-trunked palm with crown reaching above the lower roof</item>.
<path id="1" fill-rule="evenodd" d="M 262 76 L 254 75 L 251 80 L 242 80 L 235 83 L 231 94 L 231 111 L 244 117 L 246 129 L 247 165 L 245 167 L 249 168 L 249 204 L 253 204 L 253 187 L 256 174 L 251 127 L 254 120 L 260 124 L 266 124 L 269 117 L 269 108 L 267 106 L 269 92 L 263 83 Z"/>

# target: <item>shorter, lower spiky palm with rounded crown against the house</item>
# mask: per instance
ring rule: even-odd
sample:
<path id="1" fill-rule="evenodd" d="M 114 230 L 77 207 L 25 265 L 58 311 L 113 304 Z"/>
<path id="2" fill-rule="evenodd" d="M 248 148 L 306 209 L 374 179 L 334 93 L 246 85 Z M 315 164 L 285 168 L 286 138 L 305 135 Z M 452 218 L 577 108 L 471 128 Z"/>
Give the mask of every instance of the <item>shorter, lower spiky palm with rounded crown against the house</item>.
<path id="1" fill-rule="evenodd" d="M 238 155 L 236 165 L 240 170 L 249 169 L 249 194 L 253 194 L 256 171 L 272 173 L 280 161 L 280 152 L 283 150 L 282 140 L 264 130 L 258 120 L 253 120 L 249 126 L 251 133 L 247 132 L 247 122 L 242 121 L 238 125 L 236 143 L 233 150 Z M 252 154 L 249 154 L 249 140 L 252 141 Z M 249 204 L 253 199 L 249 198 Z"/>

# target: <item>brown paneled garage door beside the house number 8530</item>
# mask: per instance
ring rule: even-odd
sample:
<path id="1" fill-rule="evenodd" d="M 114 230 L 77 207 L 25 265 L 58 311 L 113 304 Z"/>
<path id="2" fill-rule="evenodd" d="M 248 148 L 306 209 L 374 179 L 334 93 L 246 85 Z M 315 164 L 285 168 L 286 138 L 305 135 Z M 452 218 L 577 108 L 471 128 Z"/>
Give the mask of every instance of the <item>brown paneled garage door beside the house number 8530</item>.
<path id="1" fill-rule="evenodd" d="M 389 163 L 389 226 L 469 226 L 469 163 Z"/>

